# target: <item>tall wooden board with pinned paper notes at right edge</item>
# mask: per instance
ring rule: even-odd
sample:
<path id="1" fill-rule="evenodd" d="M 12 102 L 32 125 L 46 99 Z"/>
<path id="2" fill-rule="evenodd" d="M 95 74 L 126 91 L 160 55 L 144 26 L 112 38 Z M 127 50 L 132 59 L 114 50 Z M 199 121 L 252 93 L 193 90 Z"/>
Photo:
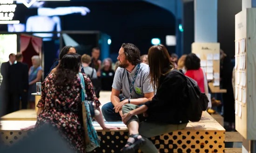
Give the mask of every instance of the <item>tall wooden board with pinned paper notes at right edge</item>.
<path id="1" fill-rule="evenodd" d="M 256 140 L 256 8 L 247 8 L 235 19 L 236 130 Z"/>

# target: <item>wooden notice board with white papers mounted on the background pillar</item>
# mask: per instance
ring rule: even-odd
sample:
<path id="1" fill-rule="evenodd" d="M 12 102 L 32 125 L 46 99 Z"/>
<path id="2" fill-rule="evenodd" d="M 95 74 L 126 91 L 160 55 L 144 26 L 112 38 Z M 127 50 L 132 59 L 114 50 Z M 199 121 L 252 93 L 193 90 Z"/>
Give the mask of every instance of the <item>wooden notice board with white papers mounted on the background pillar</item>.
<path id="1" fill-rule="evenodd" d="M 192 53 L 201 59 L 207 80 L 213 80 L 214 86 L 220 86 L 220 43 L 193 43 Z"/>

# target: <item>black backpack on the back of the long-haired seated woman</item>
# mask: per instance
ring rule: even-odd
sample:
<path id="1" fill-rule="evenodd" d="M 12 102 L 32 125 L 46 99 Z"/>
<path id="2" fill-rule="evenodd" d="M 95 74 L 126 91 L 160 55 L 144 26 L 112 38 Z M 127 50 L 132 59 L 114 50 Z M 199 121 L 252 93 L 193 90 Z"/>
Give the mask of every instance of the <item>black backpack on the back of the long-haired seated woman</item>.
<path id="1" fill-rule="evenodd" d="M 202 116 L 202 111 L 205 111 L 208 107 L 208 97 L 205 95 L 205 93 L 202 93 L 199 89 L 197 82 L 187 77 L 183 74 L 182 70 L 172 70 L 174 72 L 177 72 L 181 74 L 187 81 L 187 87 L 188 87 L 188 108 L 187 108 L 187 114 L 189 117 L 189 121 L 200 121 Z"/>

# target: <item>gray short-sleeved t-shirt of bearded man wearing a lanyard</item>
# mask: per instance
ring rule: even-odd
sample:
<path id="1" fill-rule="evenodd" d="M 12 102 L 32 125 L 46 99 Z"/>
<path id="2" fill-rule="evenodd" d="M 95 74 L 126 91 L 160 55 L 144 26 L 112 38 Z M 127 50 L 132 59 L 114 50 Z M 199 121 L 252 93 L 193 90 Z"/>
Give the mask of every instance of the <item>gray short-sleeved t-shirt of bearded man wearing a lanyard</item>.
<path id="1" fill-rule="evenodd" d="M 129 98 L 130 95 L 128 79 L 130 80 L 130 83 L 133 82 L 136 70 L 137 65 L 135 66 L 134 70 L 132 70 L 132 72 L 129 72 L 128 70 L 120 67 L 118 67 L 115 71 L 115 77 L 113 80 L 112 88 L 119 91 L 122 90 L 123 96 L 126 99 Z M 140 70 L 138 71 L 138 75 L 135 79 L 134 89 L 132 90 L 132 99 L 143 98 L 144 94 L 150 92 L 154 92 L 154 90 L 150 83 L 149 67 L 147 64 L 141 63 Z"/>

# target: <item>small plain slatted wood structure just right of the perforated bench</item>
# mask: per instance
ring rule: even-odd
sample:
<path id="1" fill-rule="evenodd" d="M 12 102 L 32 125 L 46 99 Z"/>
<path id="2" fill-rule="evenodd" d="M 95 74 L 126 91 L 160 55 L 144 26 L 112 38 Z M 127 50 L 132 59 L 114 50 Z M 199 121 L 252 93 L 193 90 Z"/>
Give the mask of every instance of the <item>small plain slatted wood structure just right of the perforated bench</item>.
<path id="1" fill-rule="evenodd" d="M 238 132 L 225 132 L 225 142 L 242 142 L 243 137 Z M 242 153 L 242 148 L 225 148 L 225 153 Z"/>

